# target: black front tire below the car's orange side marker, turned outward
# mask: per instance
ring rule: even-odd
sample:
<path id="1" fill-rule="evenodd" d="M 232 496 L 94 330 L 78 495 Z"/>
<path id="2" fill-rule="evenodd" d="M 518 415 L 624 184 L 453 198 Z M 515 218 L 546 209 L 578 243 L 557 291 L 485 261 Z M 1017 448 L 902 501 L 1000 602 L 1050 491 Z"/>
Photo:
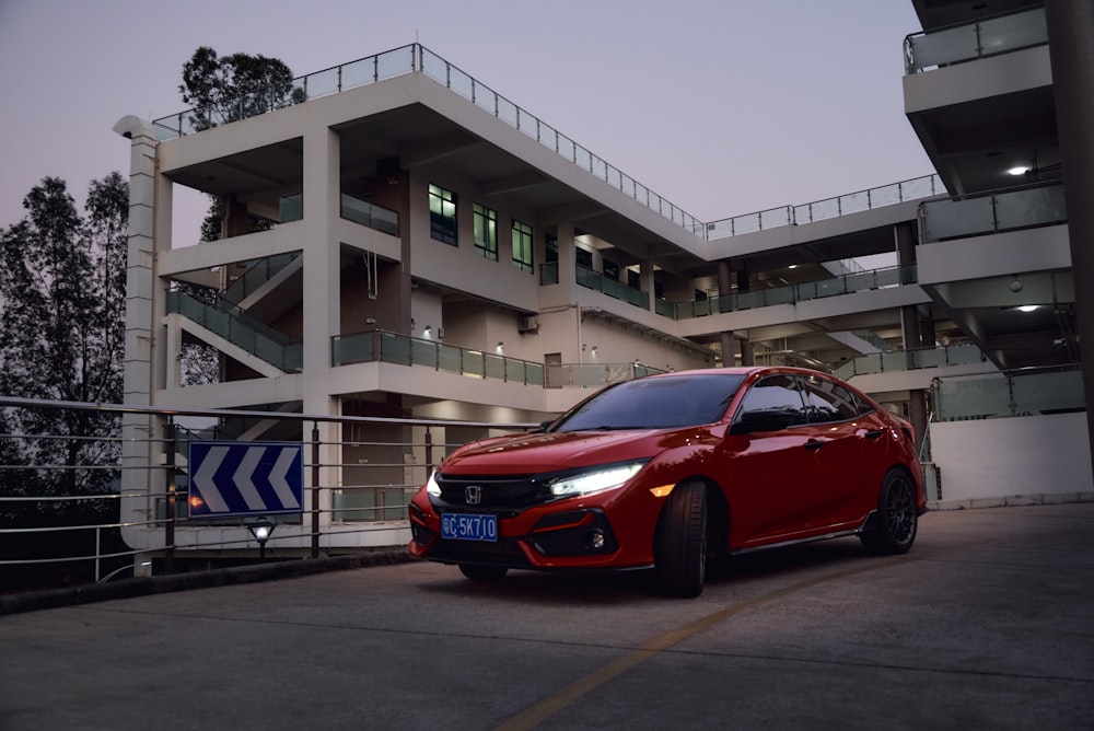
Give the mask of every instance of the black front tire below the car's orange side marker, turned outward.
<path id="1" fill-rule="evenodd" d="M 682 483 L 668 495 L 657 521 L 653 565 L 657 587 L 672 596 L 702 593 L 707 573 L 707 486 Z"/>

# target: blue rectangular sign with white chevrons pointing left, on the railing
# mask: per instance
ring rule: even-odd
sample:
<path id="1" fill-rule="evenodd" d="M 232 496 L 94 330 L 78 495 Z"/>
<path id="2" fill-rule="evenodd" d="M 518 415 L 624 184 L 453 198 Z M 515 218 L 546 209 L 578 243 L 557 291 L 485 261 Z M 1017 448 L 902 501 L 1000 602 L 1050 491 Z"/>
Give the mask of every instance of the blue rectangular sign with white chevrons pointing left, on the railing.
<path id="1" fill-rule="evenodd" d="M 190 442 L 190 518 L 304 510 L 304 452 L 293 442 Z"/>

